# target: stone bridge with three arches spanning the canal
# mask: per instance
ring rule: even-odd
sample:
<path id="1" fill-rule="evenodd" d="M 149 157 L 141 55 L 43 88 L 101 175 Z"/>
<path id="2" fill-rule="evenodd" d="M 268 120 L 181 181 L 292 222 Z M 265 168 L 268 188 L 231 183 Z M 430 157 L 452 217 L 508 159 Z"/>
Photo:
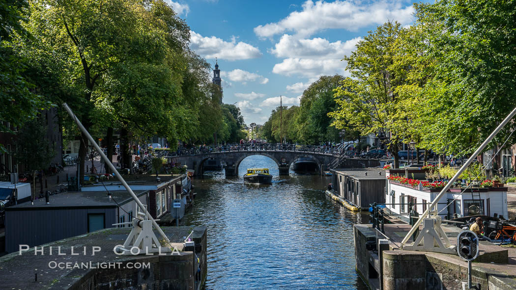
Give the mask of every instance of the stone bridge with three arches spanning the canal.
<path id="1" fill-rule="evenodd" d="M 253 155 L 266 156 L 278 165 L 280 175 L 288 175 L 288 170 L 291 164 L 299 157 L 308 157 L 317 163 L 319 173 L 329 168 L 362 168 L 362 167 L 376 167 L 380 163 L 374 159 L 356 159 L 356 158 L 342 158 L 337 155 L 319 152 L 305 152 L 305 151 L 282 151 L 282 150 L 238 150 L 238 151 L 222 151 L 222 152 L 208 152 L 198 153 L 184 156 L 167 157 L 174 163 L 181 163 L 187 165 L 188 168 L 195 170 L 195 175 L 202 175 L 204 172 L 203 164 L 208 159 L 215 159 L 217 164 L 221 162 L 224 165 L 226 176 L 238 175 L 238 167 L 240 162 L 246 157 Z"/>

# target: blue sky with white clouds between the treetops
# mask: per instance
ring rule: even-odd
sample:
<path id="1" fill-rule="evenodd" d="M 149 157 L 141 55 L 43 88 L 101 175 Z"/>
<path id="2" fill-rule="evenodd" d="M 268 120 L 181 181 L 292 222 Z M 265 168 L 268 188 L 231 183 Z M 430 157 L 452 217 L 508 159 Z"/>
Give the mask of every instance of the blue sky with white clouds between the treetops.
<path id="1" fill-rule="evenodd" d="M 346 75 L 354 45 L 388 20 L 409 25 L 412 2 L 166 0 L 191 30 L 190 48 L 212 66 L 218 58 L 223 102 L 246 124 L 263 124 L 271 110 L 298 105 L 321 75 Z"/>

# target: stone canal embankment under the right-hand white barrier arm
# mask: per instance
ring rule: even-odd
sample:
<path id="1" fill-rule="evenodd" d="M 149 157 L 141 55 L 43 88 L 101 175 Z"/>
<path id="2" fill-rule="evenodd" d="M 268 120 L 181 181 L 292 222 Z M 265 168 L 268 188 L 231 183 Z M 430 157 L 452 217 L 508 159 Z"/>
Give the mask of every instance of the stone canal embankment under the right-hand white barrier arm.
<path id="1" fill-rule="evenodd" d="M 385 237 L 371 225 L 354 225 L 356 269 L 369 289 L 464 289 L 467 262 L 458 255 L 401 249 L 410 227 L 384 225 Z M 455 226 L 443 230 L 455 245 L 461 230 Z M 472 281 L 481 289 L 516 289 L 516 248 L 481 241 L 472 269 Z"/>

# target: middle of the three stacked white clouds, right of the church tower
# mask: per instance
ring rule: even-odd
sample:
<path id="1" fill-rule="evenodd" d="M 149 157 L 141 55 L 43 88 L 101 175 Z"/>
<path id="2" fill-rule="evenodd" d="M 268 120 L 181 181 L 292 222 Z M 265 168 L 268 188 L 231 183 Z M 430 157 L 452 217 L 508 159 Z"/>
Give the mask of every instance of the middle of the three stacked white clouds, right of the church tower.
<path id="1" fill-rule="evenodd" d="M 281 58 L 342 59 L 344 55 L 349 56 L 361 40 L 357 37 L 345 42 L 329 42 L 324 38 L 299 39 L 283 35 L 270 52 Z"/>

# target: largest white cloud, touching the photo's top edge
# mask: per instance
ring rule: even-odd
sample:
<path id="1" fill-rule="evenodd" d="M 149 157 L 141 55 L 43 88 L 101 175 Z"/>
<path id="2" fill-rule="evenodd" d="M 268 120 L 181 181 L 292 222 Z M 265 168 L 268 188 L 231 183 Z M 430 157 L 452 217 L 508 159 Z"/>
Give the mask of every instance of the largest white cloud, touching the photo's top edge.
<path id="1" fill-rule="evenodd" d="M 329 28 L 357 31 L 359 28 L 380 25 L 388 20 L 409 24 L 413 21 L 413 13 L 413 6 L 406 5 L 402 0 L 381 0 L 373 3 L 352 0 L 314 3 L 309 0 L 303 3 L 301 11 L 294 11 L 278 22 L 259 25 L 254 28 L 254 33 L 265 38 L 285 31 L 294 31 L 299 36 L 310 36 Z"/>

